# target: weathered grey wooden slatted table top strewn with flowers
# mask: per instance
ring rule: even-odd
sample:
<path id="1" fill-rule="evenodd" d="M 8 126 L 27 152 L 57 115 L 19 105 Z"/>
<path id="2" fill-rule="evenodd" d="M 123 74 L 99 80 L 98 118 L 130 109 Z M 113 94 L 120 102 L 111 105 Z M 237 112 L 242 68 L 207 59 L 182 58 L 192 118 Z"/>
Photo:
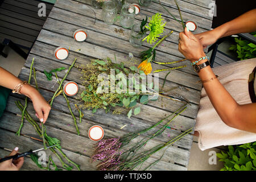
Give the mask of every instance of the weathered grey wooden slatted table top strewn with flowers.
<path id="1" fill-rule="evenodd" d="M 128 2 L 138 3 L 135 0 L 129 0 Z M 210 0 L 183 0 L 177 1 L 180 5 L 180 9 L 183 15 L 184 21 L 191 19 L 194 20 L 199 29 L 197 33 L 207 31 L 212 24 L 212 17 L 209 16 L 209 3 Z M 174 1 L 162 0 L 162 4 L 177 18 L 179 13 L 176 9 Z M 52 81 L 47 81 L 44 76 L 44 69 L 50 71 L 54 68 L 66 67 L 71 65 L 72 61 L 77 57 L 77 63 L 87 64 L 90 63 L 90 59 L 98 58 L 104 59 L 110 57 L 114 59 L 114 55 L 118 61 L 127 60 L 129 52 L 132 52 L 135 57 L 138 57 L 141 51 L 144 51 L 150 47 L 146 42 L 143 43 L 141 48 L 134 48 L 129 43 L 130 30 L 123 29 L 119 26 L 119 22 L 109 26 L 104 23 L 101 18 L 101 9 L 94 9 L 90 7 L 90 1 L 86 0 L 61 0 L 57 1 L 53 7 L 46 23 L 40 32 L 38 39 L 32 47 L 31 53 L 20 72 L 19 78 L 22 80 L 28 80 L 29 68 L 33 57 L 35 58 L 34 67 L 36 69 L 36 77 L 38 85 L 40 87 L 40 93 L 49 100 L 58 84 L 52 87 L 56 83 L 56 78 L 53 77 Z M 95 12 L 95 13 L 94 13 Z M 139 23 L 145 15 L 151 17 L 155 13 L 162 13 L 163 18 L 166 20 L 166 32 L 174 30 L 174 33 L 167 38 L 161 46 L 156 48 L 156 60 L 159 61 L 175 61 L 183 58 L 183 55 L 178 51 L 178 38 L 179 32 L 182 31 L 182 26 L 177 23 L 166 10 L 163 9 L 158 3 L 152 2 L 149 7 L 142 7 L 140 14 L 136 16 L 135 22 Z M 88 33 L 88 38 L 85 42 L 79 43 L 73 40 L 73 32 L 77 29 L 84 28 Z M 123 33 L 119 33 L 117 30 L 123 30 Z M 70 54 L 68 59 L 64 61 L 56 60 L 53 52 L 59 46 L 70 47 Z M 79 51 L 78 49 L 81 49 Z M 177 65 L 183 65 L 176 64 Z M 176 137 L 182 131 L 185 131 L 195 126 L 195 118 L 197 116 L 197 110 L 200 101 L 201 84 L 198 84 L 199 77 L 192 71 L 191 64 L 186 61 L 187 68 L 174 70 L 167 76 L 165 84 L 166 89 L 171 89 L 172 93 L 177 93 L 180 96 L 187 98 L 190 101 L 190 106 L 179 117 L 170 124 L 171 129 L 167 129 L 160 137 L 151 140 L 144 148 L 150 149 L 156 144 L 167 142 L 171 138 Z M 155 69 L 168 68 L 168 65 L 156 65 L 153 64 L 153 71 Z M 164 77 L 168 72 L 160 72 L 160 85 L 163 84 Z M 64 76 L 65 72 L 58 72 L 60 78 Z M 67 77 L 67 81 L 72 80 L 81 84 L 81 73 L 73 68 Z M 34 79 L 31 79 L 31 84 L 34 85 Z M 82 86 L 80 85 L 80 88 Z M 81 91 L 81 89 L 80 89 Z M 24 97 L 11 94 L 7 104 L 6 111 L 0 121 L 0 157 L 3 157 L 9 152 L 7 149 L 13 149 L 18 146 L 20 152 L 27 150 L 42 148 L 42 142 L 35 140 L 40 139 L 34 128 L 25 119 L 22 129 L 22 135 L 16 136 L 15 133 L 19 129 L 20 125 L 20 110 L 15 106 L 15 101 L 20 100 L 24 103 Z M 69 98 L 71 102 L 74 102 L 74 98 Z M 90 163 L 90 156 L 94 150 L 95 142 L 92 142 L 88 138 L 88 129 L 92 125 L 101 125 L 105 129 L 105 138 L 107 137 L 121 137 L 129 132 L 146 129 L 147 127 L 154 125 L 154 123 L 163 119 L 166 115 L 169 115 L 173 111 L 177 110 L 183 104 L 161 98 L 158 101 L 150 101 L 147 105 L 141 106 L 141 113 L 127 118 L 126 113 L 121 115 L 113 115 L 112 113 L 106 114 L 104 110 L 98 110 L 97 113 L 92 114 L 90 110 L 84 110 L 85 117 L 82 119 L 82 123 L 78 123 L 81 135 L 76 134 L 75 125 L 72 116 L 69 114 L 67 104 L 63 96 L 59 96 L 53 102 L 51 113 L 46 122 L 47 133 L 51 137 L 56 137 L 61 140 L 61 146 L 67 156 L 74 162 L 81 165 L 82 170 L 95 170 L 96 163 Z M 79 117 L 74 105 L 71 104 L 72 109 Z M 34 109 L 32 103 L 28 102 L 28 113 L 34 117 Z M 36 119 L 36 117 L 34 117 Z M 122 126 L 123 129 L 120 129 Z M 32 138 L 31 138 L 32 137 Z M 193 135 L 189 134 L 183 139 L 177 141 L 168 148 L 163 158 L 158 164 L 152 167 L 152 170 L 186 170 L 189 161 L 189 154 L 191 150 L 191 144 L 193 141 Z M 47 150 L 47 156 L 51 153 Z M 147 160 L 147 164 L 154 162 L 162 155 L 162 152 L 158 152 Z M 52 155 L 53 159 L 56 158 Z M 55 160 L 56 164 L 59 160 Z M 24 162 L 23 170 L 39 169 L 32 160 L 26 158 Z"/>

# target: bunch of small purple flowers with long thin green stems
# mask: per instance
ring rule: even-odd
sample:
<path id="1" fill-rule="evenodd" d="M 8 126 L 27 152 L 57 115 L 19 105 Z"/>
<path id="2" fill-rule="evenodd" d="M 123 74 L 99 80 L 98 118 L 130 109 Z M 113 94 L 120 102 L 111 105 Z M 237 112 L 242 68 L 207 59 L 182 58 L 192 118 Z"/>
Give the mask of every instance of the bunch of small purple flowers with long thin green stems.
<path id="1" fill-rule="evenodd" d="M 185 109 L 187 109 L 186 105 L 177 109 L 174 113 L 168 115 L 168 117 L 160 120 L 155 125 L 149 127 L 148 129 L 144 129 L 139 131 L 138 133 L 127 134 L 121 138 L 111 138 L 105 139 L 98 143 L 96 150 L 92 156 L 92 160 L 103 160 L 100 164 L 98 164 L 98 169 L 100 170 L 133 170 L 139 164 L 143 164 L 152 154 L 161 150 L 162 148 L 171 144 L 171 142 L 176 142 L 176 140 L 184 137 L 184 134 L 179 135 L 178 137 L 168 141 L 165 144 L 160 144 L 154 148 L 151 148 L 149 151 L 144 151 L 138 153 L 139 148 L 143 147 L 150 139 L 155 138 L 162 134 L 164 130 L 166 130 L 167 126 L 172 122 L 178 115 L 180 115 Z M 179 113 L 178 113 L 179 112 Z M 131 140 L 137 138 L 138 136 L 147 133 L 151 129 L 156 126 L 159 126 L 160 123 L 165 121 L 167 118 L 171 117 L 177 113 L 170 121 L 168 121 L 164 126 L 162 126 L 156 133 L 150 134 L 139 142 L 135 144 L 131 144 L 126 147 Z M 125 152 L 121 151 L 123 147 L 129 148 Z M 159 159 L 160 160 L 160 159 Z M 154 162 L 156 164 L 157 162 Z M 153 163 L 151 164 L 154 165 Z"/>

